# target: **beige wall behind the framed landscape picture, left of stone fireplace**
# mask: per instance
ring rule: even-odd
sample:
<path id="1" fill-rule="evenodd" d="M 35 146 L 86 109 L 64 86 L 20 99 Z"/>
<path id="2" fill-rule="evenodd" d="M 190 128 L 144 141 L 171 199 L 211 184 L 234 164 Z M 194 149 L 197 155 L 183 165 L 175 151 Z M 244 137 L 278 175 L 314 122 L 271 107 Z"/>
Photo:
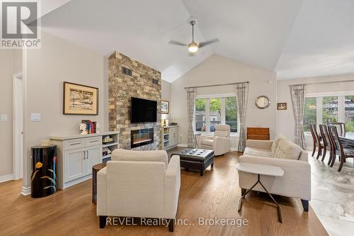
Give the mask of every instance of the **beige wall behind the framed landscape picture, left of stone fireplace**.
<path id="1" fill-rule="evenodd" d="M 79 45 L 42 32 L 42 48 L 25 52 L 24 79 L 27 111 L 25 113 L 25 145 L 27 176 L 24 186 L 30 186 L 30 147 L 50 135 L 79 134 L 82 119 L 101 123 L 108 129 L 108 77 L 106 58 Z M 98 87 L 98 116 L 63 115 L 63 82 Z M 41 113 L 40 122 L 31 122 L 31 113 Z"/>

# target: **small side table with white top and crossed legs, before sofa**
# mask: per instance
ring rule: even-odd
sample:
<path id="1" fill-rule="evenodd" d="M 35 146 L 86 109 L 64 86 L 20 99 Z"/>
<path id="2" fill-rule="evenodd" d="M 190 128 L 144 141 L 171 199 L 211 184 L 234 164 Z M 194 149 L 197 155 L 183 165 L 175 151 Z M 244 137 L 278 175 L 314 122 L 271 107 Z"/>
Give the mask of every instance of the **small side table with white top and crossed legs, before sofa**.
<path id="1" fill-rule="evenodd" d="M 283 176 L 284 171 L 280 167 L 269 166 L 269 165 L 265 165 L 265 164 L 253 164 L 253 163 L 239 163 L 239 164 L 237 164 L 236 169 L 239 172 L 247 172 L 247 173 L 258 175 L 258 180 L 256 181 L 256 183 L 253 184 L 253 186 L 251 186 L 251 189 L 248 189 L 239 199 L 239 211 L 241 210 L 242 199 L 246 196 L 246 194 L 249 193 L 257 184 L 261 184 L 262 188 L 268 193 L 270 198 L 272 198 L 273 202 L 277 205 L 278 218 L 279 218 L 280 223 L 282 223 L 282 213 L 281 213 L 280 205 L 275 201 L 275 199 L 268 192 L 268 190 L 265 189 L 265 186 L 263 186 L 263 184 L 261 182 L 261 174 L 268 175 L 268 176 Z"/>

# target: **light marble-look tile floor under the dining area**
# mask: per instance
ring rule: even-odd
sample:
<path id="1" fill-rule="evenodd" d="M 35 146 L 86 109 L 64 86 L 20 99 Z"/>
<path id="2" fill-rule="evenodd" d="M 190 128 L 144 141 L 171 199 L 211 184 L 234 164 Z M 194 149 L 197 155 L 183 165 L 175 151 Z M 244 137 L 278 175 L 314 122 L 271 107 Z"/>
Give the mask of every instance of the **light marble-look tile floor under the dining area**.
<path id="1" fill-rule="evenodd" d="M 312 201 L 310 201 L 310 205 L 329 235 L 353 235 L 353 159 L 347 159 L 342 171 L 337 172 L 338 157 L 333 167 L 327 165 L 329 154 L 324 162 L 321 162 L 321 157 L 319 160 L 315 157 L 311 157 L 311 152 L 309 152 L 312 172 Z"/>

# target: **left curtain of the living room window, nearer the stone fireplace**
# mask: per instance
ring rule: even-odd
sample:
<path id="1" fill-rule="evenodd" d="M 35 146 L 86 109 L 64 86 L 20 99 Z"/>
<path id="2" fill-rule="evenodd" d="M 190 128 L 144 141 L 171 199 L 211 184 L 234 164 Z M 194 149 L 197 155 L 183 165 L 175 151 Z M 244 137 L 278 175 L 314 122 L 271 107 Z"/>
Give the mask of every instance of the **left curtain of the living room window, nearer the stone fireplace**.
<path id="1" fill-rule="evenodd" d="M 195 142 L 193 118 L 195 110 L 195 96 L 197 95 L 196 88 L 185 89 L 187 92 L 187 111 L 188 111 L 188 147 L 197 147 Z"/>

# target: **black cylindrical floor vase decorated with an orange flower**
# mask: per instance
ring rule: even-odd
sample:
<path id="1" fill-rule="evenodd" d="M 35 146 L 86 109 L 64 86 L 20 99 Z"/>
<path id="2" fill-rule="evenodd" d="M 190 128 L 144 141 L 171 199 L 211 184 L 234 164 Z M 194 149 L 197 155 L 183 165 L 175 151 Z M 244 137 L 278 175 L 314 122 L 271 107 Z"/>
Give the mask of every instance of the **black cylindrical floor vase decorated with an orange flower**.
<path id="1" fill-rule="evenodd" d="M 32 147 L 31 196 L 42 198 L 57 191 L 57 145 Z"/>

